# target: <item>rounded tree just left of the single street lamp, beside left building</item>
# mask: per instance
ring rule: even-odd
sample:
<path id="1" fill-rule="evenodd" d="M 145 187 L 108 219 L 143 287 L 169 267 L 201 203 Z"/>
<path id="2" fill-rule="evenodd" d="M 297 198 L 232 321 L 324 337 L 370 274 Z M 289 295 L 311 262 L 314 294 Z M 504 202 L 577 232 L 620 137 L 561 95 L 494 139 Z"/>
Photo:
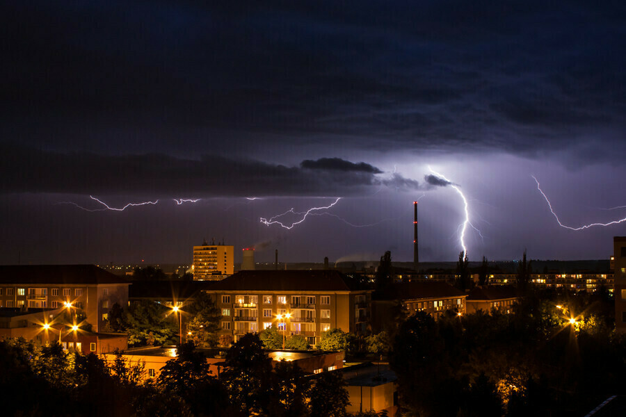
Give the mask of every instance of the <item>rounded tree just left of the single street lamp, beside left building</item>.
<path id="1" fill-rule="evenodd" d="M 163 345 L 178 332 L 178 320 L 163 304 L 142 300 L 129 307 L 125 322 L 130 345 Z"/>

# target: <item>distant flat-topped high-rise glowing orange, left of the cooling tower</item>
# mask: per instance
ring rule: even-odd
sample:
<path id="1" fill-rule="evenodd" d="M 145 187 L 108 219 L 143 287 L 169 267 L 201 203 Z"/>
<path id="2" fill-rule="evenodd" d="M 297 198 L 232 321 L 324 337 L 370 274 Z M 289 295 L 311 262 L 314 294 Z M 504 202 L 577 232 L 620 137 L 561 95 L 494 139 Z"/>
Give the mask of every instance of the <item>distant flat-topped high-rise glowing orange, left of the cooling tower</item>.
<path id="1" fill-rule="evenodd" d="M 234 272 L 234 247 L 201 245 L 193 247 L 193 279 L 219 281 Z"/>

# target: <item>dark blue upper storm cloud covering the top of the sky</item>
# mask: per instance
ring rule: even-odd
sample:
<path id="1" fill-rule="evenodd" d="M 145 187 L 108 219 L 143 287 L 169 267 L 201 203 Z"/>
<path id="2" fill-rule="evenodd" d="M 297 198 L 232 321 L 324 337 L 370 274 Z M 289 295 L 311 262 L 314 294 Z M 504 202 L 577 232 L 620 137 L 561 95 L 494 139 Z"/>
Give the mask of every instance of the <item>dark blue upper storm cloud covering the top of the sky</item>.
<path id="1" fill-rule="evenodd" d="M 613 150 L 624 147 L 620 2 L 42 1 L 5 9 L 0 134 L 47 149 L 97 140 L 107 152 L 141 142 L 202 154 L 218 142 L 227 154 L 274 134 L 278 147 L 341 138 L 382 152 L 531 156 L 577 152 L 593 140 L 600 157 L 619 158 Z M 223 140 L 224 131 L 235 140 Z"/>

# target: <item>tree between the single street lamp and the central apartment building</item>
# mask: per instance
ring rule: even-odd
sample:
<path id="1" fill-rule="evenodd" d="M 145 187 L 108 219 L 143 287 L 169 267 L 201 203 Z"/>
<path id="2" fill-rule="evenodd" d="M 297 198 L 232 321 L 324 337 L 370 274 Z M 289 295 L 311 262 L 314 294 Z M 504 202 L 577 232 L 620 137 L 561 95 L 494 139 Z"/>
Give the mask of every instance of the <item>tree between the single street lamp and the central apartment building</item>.
<path id="1" fill-rule="evenodd" d="M 192 316 L 187 324 L 188 340 L 198 347 L 216 347 L 222 314 L 207 293 L 200 292 L 188 307 Z"/>

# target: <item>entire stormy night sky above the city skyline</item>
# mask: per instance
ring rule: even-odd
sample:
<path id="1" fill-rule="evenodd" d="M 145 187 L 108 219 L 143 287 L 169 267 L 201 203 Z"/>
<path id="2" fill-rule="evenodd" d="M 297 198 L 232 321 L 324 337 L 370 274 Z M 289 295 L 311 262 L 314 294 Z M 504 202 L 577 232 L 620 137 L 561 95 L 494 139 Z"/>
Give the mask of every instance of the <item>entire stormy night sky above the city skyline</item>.
<path id="1" fill-rule="evenodd" d="M 420 259 L 455 261 L 454 187 L 471 261 L 626 235 L 532 177 L 567 226 L 626 218 L 622 1 L 204 3 L 0 6 L 0 263 L 410 261 L 418 198 Z"/>

